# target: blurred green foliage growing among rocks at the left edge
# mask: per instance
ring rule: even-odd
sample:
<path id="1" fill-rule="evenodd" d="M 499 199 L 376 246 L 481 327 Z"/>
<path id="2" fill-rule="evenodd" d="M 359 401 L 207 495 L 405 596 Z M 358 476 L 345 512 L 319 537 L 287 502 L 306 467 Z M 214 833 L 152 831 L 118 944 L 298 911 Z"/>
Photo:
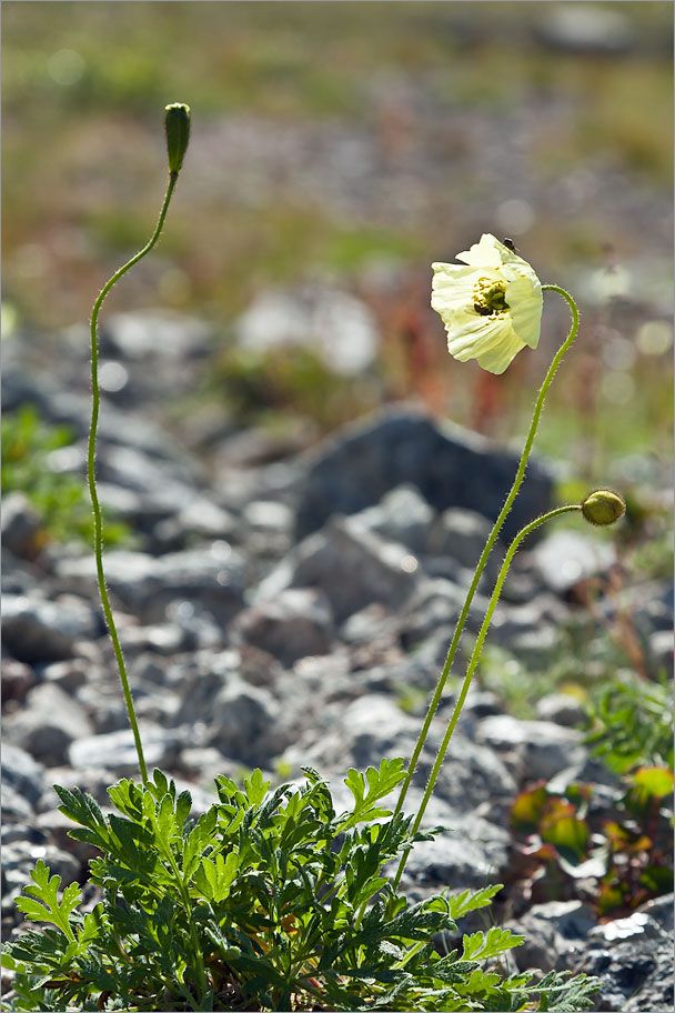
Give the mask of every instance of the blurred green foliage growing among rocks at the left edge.
<path id="1" fill-rule="evenodd" d="M 2 415 L 2 489 L 24 493 L 43 524 L 36 550 L 47 541 L 91 543 L 91 506 L 77 475 L 53 471 L 49 454 L 73 442 L 67 425 L 44 422 L 34 404 L 23 404 Z M 130 538 L 124 523 L 107 516 L 105 543 Z"/>

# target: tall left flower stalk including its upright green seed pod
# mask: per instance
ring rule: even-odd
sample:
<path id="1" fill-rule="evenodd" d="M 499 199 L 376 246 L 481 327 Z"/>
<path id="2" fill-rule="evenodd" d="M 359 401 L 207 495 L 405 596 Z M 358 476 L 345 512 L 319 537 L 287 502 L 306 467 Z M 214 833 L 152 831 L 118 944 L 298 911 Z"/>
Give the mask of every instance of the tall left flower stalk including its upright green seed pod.
<path id="1" fill-rule="evenodd" d="M 118 630 L 115 626 L 114 618 L 112 614 L 112 609 L 110 605 L 110 598 L 108 595 L 108 588 L 105 586 L 105 574 L 103 570 L 103 518 L 101 514 L 101 506 L 99 503 L 99 494 L 97 489 L 97 474 L 95 474 L 95 452 L 97 452 L 97 432 L 99 424 L 99 412 L 101 403 L 101 394 L 99 388 L 99 337 L 98 337 L 98 321 L 99 312 L 103 304 L 103 301 L 112 287 L 122 278 L 123 274 L 129 271 L 139 260 L 142 260 L 147 253 L 150 253 L 152 248 L 157 244 L 157 241 L 160 238 L 162 228 L 164 225 L 164 219 L 167 217 L 167 211 L 169 210 L 169 204 L 171 202 L 171 197 L 178 180 L 178 174 L 182 164 L 183 156 L 188 148 L 188 141 L 190 138 L 190 109 L 188 106 L 181 103 L 173 103 L 168 106 L 165 110 L 164 126 L 167 130 L 167 152 L 169 160 L 169 185 L 167 188 L 167 193 L 164 195 L 164 201 L 160 211 L 160 217 L 155 225 L 154 232 L 150 237 L 148 243 L 135 253 L 131 260 L 128 260 L 109 281 L 105 282 L 101 291 L 99 292 L 98 299 L 93 304 L 93 310 L 91 312 L 91 423 L 89 427 L 89 442 L 88 442 L 88 452 L 87 452 L 87 484 L 89 485 L 89 494 L 91 498 L 91 505 L 93 509 L 93 536 L 94 536 L 94 555 L 97 561 L 97 579 L 99 584 L 99 594 L 101 596 L 101 605 L 103 606 L 103 613 L 105 615 L 105 622 L 108 624 L 108 630 L 110 632 L 110 639 L 112 641 L 112 646 L 114 650 L 114 656 L 118 663 L 118 671 L 120 673 L 120 681 L 122 683 L 122 692 L 124 694 L 124 703 L 127 704 L 127 712 L 129 714 L 129 723 L 131 724 L 131 730 L 133 732 L 133 740 L 135 743 L 135 750 L 139 758 L 139 768 L 141 772 L 141 778 L 143 783 L 148 783 L 148 768 L 145 765 L 145 758 L 143 755 L 143 746 L 141 743 L 141 735 L 139 732 L 139 725 L 135 716 L 135 709 L 133 706 L 133 698 L 131 695 L 131 689 L 129 685 L 129 676 L 127 674 L 127 665 L 124 662 L 124 655 L 122 653 L 122 645 L 120 644 L 120 638 L 118 635 Z"/>

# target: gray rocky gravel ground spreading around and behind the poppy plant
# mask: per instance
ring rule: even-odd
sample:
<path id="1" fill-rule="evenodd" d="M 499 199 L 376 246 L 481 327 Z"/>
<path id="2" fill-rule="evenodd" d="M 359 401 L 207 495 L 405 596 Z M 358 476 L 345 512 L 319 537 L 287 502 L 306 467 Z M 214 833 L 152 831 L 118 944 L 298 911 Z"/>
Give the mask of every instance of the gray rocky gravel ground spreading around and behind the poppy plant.
<path id="1" fill-rule="evenodd" d="M 195 811 L 209 804 L 216 773 L 240 776 L 254 765 L 280 780 L 309 763 L 332 779 L 340 799 L 349 766 L 411 754 L 420 719 L 403 701 L 411 692 L 423 700 L 435 684 L 516 460 L 400 405 L 292 453 L 262 433 L 223 427 L 218 467 L 205 468 L 162 427 L 157 405 L 191 382 L 208 355 L 206 331 L 190 320 L 139 318 L 138 333 L 145 327 L 152 343 L 131 348 L 127 338 L 125 350 L 130 321 L 110 319 L 108 351 L 152 388 L 154 404 L 141 409 L 123 391 L 111 397 L 98 461 L 102 499 L 138 532 L 134 548 L 108 551 L 105 564 L 148 763 L 188 785 Z M 14 341 L 3 405 L 31 402 L 47 420 L 67 421 L 77 440 L 53 451 L 50 467 L 82 474 L 85 375 L 80 387 L 68 378 L 85 374 L 85 345 L 72 344 L 80 358 L 66 350 L 48 373 L 27 368 Z M 535 462 L 505 536 L 551 498 L 551 475 Z M 39 531 L 27 499 L 8 495 L 6 934 L 19 922 L 12 899 L 38 859 L 66 882 L 85 879 L 90 855 L 67 836 L 51 785 L 77 784 L 104 805 L 107 786 L 138 772 L 91 553 L 42 545 Z M 594 622 L 574 604 L 575 589 L 613 562 L 607 543 L 586 531 L 552 530 L 516 558 L 491 642 L 545 669 L 562 650 L 563 628 L 587 631 Z M 491 576 L 488 568 L 470 634 Z M 668 593 L 661 582 L 635 592 L 654 671 L 672 656 Z M 411 808 L 451 704 L 449 696 L 432 725 Z M 621 794 L 575 728 L 581 715 L 571 698 L 543 698 L 536 714 L 516 720 L 494 693 L 472 689 L 427 813 L 430 824 L 451 830 L 417 847 L 403 887 L 417 899 L 446 886 L 511 883 L 495 912 L 527 936 L 514 966 L 598 974 L 601 1010 L 671 1009 L 672 897 L 600 923 L 582 896 L 534 902 L 513 885 L 508 811 L 518 791 L 536 779 L 575 778 L 594 785 L 608 809 Z"/>

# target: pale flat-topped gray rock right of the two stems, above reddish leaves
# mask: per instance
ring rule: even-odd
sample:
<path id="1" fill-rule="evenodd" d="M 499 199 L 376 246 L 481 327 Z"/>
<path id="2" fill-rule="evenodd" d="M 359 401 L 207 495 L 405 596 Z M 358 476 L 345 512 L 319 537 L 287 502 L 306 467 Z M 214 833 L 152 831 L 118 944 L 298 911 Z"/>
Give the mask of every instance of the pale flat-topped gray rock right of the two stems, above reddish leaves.
<path id="1" fill-rule="evenodd" d="M 551 721 L 518 721 L 510 714 L 480 721 L 476 741 L 520 755 L 521 778 L 531 781 L 547 781 L 565 768 L 583 763 L 587 755 L 581 732 Z"/>

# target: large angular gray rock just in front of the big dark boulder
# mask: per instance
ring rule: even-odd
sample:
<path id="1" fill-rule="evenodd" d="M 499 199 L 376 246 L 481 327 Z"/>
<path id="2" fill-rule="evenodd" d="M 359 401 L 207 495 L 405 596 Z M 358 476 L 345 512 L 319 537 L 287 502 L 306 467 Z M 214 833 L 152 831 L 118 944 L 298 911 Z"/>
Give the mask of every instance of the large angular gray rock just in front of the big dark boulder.
<path id="1" fill-rule="evenodd" d="M 339 623 L 373 602 L 399 609 L 417 585 L 411 560 L 403 545 L 383 542 L 355 519 L 333 518 L 262 581 L 256 600 L 286 588 L 319 588 Z"/>

